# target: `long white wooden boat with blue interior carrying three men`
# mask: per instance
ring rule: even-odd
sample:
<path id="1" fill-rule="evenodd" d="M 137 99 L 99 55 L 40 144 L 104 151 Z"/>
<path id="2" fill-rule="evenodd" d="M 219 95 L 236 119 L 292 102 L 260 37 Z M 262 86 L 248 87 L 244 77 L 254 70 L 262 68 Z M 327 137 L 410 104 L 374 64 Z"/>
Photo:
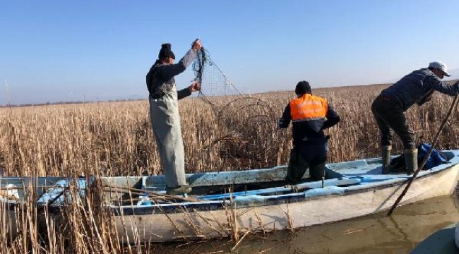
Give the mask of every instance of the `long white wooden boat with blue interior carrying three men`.
<path id="1" fill-rule="evenodd" d="M 459 178 L 459 150 L 443 151 L 443 155 L 448 163 L 420 172 L 400 205 L 453 193 Z M 190 241 L 293 230 L 383 212 L 411 177 L 381 174 L 381 159 L 327 166 L 333 179 L 311 182 L 306 176 L 296 186 L 282 186 L 287 167 L 188 174 L 193 192 L 186 198 L 165 195 L 164 176 L 61 179 L 38 203 L 59 207 L 74 202 L 84 196 L 87 186 L 97 183 L 122 242 Z M 71 181 L 81 195 L 63 195 Z M 148 193 L 150 205 L 137 205 L 141 193 Z"/>

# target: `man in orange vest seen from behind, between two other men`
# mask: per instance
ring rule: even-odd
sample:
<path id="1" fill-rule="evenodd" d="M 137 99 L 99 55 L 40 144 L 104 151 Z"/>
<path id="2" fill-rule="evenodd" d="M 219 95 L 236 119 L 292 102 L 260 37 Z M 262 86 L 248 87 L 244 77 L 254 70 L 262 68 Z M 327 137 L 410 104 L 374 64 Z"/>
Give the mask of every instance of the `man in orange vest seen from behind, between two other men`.
<path id="1" fill-rule="evenodd" d="M 314 181 L 326 178 L 327 138 L 323 130 L 334 126 L 340 116 L 323 97 L 314 96 L 306 81 L 295 87 L 297 98 L 285 107 L 280 128 L 287 128 L 292 121 L 293 149 L 290 154 L 285 185 L 301 181 L 306 169 Z"/>

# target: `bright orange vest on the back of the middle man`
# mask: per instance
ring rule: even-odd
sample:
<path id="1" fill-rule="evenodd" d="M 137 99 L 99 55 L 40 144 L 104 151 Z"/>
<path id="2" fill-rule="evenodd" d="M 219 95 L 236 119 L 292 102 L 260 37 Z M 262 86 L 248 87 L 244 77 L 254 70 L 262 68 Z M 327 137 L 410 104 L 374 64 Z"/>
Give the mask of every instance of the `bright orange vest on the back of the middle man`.
<path id="1" fill-rule="evenodd" d="M 327 115 L 327 99 L 304 94 L 290 101 L 292 121 L 324 119 Z"/>

